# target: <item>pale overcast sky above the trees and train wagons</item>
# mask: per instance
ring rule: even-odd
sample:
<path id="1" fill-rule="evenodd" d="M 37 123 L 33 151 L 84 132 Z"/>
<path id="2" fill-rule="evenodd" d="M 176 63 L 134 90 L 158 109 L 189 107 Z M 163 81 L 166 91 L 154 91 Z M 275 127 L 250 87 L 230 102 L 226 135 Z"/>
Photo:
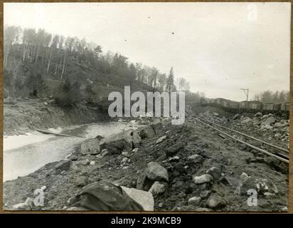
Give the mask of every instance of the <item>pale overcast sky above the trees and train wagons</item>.
<path id="1" fill-rule="evenodd" d="M 189 81 L 209 98 L 289 90 L 290 3 L 4 3 L 4 25 L 45 28 Z"/>

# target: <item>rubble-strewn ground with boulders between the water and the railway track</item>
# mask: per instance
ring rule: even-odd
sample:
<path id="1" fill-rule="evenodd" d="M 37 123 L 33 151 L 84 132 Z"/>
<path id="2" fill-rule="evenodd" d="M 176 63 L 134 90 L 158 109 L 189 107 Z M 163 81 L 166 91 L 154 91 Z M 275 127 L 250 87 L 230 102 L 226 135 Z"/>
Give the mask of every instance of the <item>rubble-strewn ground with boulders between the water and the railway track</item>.
<path id="1" fill-rule="evenodd" d="M 146 210 L 287 211 L 288 175 L 275 162 L 194 120 L 171 125 L 164 118 L 85 140 L 65 160 L 4 182 L 4 209 L 89 209 L 72 199 L 103 181 L 122 186 Z M 40 189 L 43 207 L 34 203 Z"/>

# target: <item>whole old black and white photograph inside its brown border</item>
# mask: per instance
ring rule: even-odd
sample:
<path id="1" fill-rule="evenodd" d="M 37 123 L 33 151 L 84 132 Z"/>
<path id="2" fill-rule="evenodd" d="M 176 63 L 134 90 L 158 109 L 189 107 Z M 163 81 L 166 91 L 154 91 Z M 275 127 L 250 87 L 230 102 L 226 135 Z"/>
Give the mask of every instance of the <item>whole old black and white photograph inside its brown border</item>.
<path id="1" fill-rule="evenodd" d="M 289 2 L 4 3 L 3 210 L 287 212 Z"/>

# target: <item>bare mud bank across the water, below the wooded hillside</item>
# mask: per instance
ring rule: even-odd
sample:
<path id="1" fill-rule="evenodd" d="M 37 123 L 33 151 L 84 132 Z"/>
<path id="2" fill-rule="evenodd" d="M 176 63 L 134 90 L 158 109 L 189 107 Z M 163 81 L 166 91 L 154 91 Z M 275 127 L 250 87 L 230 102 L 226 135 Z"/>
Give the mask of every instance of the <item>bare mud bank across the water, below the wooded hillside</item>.
<path id="1" fill-rule="evenodd" d="M 48 99 L 4 100 L 4 135 L 22 135 L 36 128 L 58 128 L 104 120 L 109 120 L 107 113 L 82 103 L 61 108 Z"/>

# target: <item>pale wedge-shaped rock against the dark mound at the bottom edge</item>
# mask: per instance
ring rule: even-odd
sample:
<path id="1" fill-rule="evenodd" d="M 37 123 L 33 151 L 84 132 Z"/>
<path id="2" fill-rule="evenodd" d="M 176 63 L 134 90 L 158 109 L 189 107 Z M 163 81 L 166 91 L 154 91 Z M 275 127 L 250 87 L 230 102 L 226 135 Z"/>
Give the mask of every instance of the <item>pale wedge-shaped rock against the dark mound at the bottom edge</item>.
<path id="1" fill-rule="evenodd" d="M 145 211 L 154 211 L 154 197 L 151 195 L 151 192 L 136 190 L 135 188 L 124 186 L 121 187 L 129 197 L 141 204 Z"/>

